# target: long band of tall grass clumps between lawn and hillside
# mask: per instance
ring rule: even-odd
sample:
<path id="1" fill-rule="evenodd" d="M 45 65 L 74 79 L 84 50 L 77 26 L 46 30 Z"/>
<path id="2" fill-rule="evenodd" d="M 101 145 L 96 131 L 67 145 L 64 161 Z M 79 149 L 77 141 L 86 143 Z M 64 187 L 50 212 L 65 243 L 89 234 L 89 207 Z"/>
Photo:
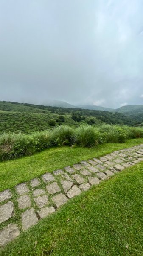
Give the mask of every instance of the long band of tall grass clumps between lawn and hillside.
<path id="1" fill-rule="evenodd" d="M 0 134 L 0 160 L 32 155 L 59 145 L 95 147 L 102 143 L 124 143 L 127 139 L 142 137 L 143 130 L 140 128 L 117 125 L 101 125 L 99 128 L 81 125 L 75 129 L 61 125 L 53 130 L 31 134 L 4 132 Z"/>

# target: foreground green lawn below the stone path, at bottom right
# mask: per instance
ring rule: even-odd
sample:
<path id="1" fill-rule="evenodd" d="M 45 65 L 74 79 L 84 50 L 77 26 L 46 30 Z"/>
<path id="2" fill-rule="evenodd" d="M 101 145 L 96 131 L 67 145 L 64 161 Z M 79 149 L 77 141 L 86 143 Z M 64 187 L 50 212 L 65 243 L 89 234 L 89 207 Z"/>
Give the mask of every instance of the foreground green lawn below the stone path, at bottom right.
<path id="1" fill-rule="evenodd" d="M 142 256 L 143 163 L 69 200 L 0 255 Z"/>

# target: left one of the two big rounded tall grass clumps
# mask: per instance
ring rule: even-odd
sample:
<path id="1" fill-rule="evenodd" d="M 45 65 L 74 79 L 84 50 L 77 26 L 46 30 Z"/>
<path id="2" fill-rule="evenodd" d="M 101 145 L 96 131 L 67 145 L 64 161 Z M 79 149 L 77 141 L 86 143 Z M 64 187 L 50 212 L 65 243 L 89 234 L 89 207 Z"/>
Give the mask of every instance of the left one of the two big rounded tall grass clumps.
<path id="1" fill-rule="evenodd" d="M 72 145 L 73 128 L 67 125 L 60 125 L 53 129 L 52 143 L 53 145 Z"/>

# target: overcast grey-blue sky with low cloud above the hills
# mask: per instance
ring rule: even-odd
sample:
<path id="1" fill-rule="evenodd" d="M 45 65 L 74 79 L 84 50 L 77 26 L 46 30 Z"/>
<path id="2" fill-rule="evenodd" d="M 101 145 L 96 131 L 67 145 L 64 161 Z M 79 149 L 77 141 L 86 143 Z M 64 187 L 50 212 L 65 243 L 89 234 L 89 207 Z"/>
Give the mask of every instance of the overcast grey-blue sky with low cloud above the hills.
<path id="1" fill-rule="evenodd" d="M 0 0 L 0 100 L 143 104 L 143 0 Z"/>

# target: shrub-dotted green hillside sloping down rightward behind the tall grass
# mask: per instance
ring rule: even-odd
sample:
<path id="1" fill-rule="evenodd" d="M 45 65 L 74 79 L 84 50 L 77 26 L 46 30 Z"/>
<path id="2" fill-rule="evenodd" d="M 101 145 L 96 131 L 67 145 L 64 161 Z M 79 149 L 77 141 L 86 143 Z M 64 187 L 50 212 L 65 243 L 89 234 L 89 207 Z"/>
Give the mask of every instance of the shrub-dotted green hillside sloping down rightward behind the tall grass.
<path id="1" fill-rule="evenodd" d="M 122 113 L 79 108 L 59 108 L 17 102 L 0 102 L 0 131 L 42 131 L 62 123 L 77 127 L 102 123 L 136 125 Z"/>

